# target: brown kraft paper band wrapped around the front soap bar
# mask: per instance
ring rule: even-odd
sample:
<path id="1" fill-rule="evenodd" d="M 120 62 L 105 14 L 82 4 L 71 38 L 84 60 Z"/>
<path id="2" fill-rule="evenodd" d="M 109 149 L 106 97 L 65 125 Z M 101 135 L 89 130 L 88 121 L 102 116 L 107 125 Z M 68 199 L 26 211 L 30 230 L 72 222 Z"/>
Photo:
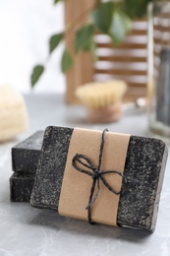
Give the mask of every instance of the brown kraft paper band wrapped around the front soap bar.
<path id="1" fill-rule="evenodd" d="M 88 204 L 92 178 L 75 169 L 72 160 L 76 154 L 82 154 L 97 167 L 101 136 L 102 132 L 100 131 L 74 129 L 60 194 L 60 215 L 87 221 L 85 207 Z M 123 173 L 129 139 L 130 135 L 105 133 L 101 170 L 117 170 Z M 82 165 L 79 164 L 79 166 Z M 85 169 L 85 166 L 82 168 Z M 89 171 L 88 168 L 86 170 Z M 106 174 L 104 178 L 116 191 L 120 191 L 122 186 L 120 175 Z M 119 196 L 109 191 L 100 180 L 98 198 L 91 206 L 91 220 L 100 224 L 117 225 L 118 204 Z"/>

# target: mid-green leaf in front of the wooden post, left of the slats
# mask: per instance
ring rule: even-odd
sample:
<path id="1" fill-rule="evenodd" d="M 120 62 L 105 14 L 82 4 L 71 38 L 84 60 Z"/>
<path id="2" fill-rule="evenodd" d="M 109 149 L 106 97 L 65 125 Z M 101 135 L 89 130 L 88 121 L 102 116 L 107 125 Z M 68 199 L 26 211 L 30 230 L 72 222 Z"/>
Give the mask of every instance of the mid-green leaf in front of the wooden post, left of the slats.
<path id="1" fill-rule="evenodd" d="M 91 24 L 83 26 L 77 33 L 75 39 L 75 50 L 78 52 L 80 49 L 89 50 L 90 42 L 93 36 L 94 30 Z"/>

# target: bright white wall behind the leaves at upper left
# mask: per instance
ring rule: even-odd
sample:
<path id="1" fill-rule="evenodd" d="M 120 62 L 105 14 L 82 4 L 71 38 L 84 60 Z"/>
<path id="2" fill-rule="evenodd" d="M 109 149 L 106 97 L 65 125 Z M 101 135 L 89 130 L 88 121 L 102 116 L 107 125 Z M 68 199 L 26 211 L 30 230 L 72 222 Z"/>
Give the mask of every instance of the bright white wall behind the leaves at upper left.
<path id="1" fill-rule="evenodd" d="M 52 0 L 0 0 L 0 84 L 30 91 L 32 67 L 48 56 L 48 38 L 64 28 L 62 3 Z M 51 55 L 35 92 L 65 91 L 60 71 L 63 45 Z"/>

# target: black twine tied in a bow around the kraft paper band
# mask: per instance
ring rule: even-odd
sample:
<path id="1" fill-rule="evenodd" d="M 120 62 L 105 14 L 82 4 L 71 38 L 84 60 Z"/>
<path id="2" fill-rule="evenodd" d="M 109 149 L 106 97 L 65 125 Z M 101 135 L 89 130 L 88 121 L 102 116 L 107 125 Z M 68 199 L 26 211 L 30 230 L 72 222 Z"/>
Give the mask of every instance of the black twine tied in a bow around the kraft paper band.
<path id="1" fill-rule="evenodd" d="M 114 188 L 112 188 L 109 183 L 106 181 L 106 179 L 104 178 L 104 175 L 106 174 L 118 174 L 120 175 L 122 178 L 124 178 L 124 175 L 120 172 L 120 171 L 117 171 L 117 170 L 106 170 L 106 171 L 103 171 L 101 170 L 100 166 L 101 166 L 101 161 L 102 161 L 102 156 L 103 156 L 103 148 L 104 148 L 104 142 L 105 142 L 105 133 L 108 132 L 108 129 L 104 129 L 104 131 L 102 132 L 102 138 L 101 138 L 101 144 L 100 144 L 100 151 L 99 151 L 99 158 L 98 158 L 98 166 L 97 168 L 95 168 L 91 162 L 91 160 L 89 160 L 88 158 L 86 158 L 84 155 L 80 155 L 80 154 L 77 154 L 73 160 L 72 160 L 72 164 L 73 166 L 80 172 L 82 173 L 85 173 L 86 175 L 90 176 L 93 181 L 92 181 L 92 186 L 91 186 L 91 189 L 90 189 L 90 195 L 89 195 L 89 200 L 88 200 L 88 204 L 86 206 L 86 210 L 87 210 L 87 218 L 88 218 L 88 223 L 89 224 L 94 224 L 92 221 L 91 221 L 91 206 L 92 204 L 96 201 L 96 199 L 98 198 L 98 195 L 99 195 L 99 192 L 100 192 L 100 180 L 103 182 L 103 184 L 115 195 L 119 195 L 121 193 L 121 190 L 120 191 L 116 191 Z M 84 160 L 84 161 L 83 161 Z M 91 171 L 88 171 L 88 170 L 85 170 L 84 168 L 82 167 L 79 167 L 77 165 L 77 161 L 79 163 L 81 163 L 83 166 L 85 166 L 86 168 L 92 170 Z M 94 194 L 94 190 L 95 190 L 95 185 L 97 183 L 97 191 L 95 193 L 95 195 L 93 196 Z"/>

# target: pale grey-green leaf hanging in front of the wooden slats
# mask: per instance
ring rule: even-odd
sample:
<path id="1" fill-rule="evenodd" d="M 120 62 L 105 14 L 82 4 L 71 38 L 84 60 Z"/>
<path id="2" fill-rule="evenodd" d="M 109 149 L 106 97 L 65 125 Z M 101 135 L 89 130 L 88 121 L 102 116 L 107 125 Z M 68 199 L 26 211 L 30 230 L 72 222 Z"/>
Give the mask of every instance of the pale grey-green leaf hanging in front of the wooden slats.
<path id="1" fill-rule="evenodd" d="M 115 11 L 110 28 L 110 36 L 114 44 L 120 44 L 127 32 L 132 29 L 131 19 L 123 12 Z"/>

